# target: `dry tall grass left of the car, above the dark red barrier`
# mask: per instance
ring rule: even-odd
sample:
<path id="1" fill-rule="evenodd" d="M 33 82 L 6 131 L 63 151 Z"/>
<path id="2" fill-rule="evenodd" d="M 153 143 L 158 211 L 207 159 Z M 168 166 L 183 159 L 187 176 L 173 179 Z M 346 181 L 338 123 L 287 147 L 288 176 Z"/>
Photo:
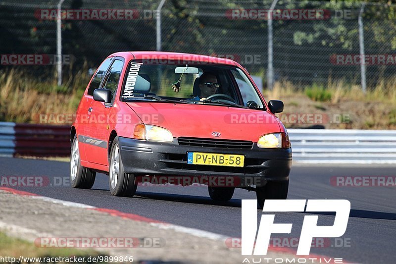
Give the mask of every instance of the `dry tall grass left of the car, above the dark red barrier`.
<path id="1" fill-rule="evenodd" d="M 11 69 L 0 74 L 0 121 L 35 122 L 42 113 L 75 113 L 89 76 L 78 72 L 65 86 L 39 82 Z"/>

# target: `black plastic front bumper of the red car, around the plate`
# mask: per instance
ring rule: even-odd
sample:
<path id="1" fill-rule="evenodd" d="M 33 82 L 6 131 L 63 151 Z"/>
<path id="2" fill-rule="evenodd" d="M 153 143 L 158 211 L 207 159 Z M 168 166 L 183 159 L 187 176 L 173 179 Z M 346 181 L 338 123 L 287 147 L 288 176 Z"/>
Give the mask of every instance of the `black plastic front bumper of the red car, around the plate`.
<path id="1" fill-rule="evenodd" d="M 238 176 L 286 181 L 292 166 L 292 149 L 225 149 L 118 138 L 125 173 L 135 175 Z M 187 152 L 245 155 L 244 167 L 187 164 Z"/>

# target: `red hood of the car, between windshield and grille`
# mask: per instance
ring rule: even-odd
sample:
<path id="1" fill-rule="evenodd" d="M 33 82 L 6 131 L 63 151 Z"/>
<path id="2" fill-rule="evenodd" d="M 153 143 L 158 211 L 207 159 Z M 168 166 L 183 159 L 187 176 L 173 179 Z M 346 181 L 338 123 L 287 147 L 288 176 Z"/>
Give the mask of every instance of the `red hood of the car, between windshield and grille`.
<path id="1" fill-rule="evenodd" d="M 143 123 L 169 129 L 173 137 L 249 140 L 280 132 L 279 119 L 263 110 L 228 106 L 126 103 Z M 219 132 L 215 137 L 212 132 Z"/>

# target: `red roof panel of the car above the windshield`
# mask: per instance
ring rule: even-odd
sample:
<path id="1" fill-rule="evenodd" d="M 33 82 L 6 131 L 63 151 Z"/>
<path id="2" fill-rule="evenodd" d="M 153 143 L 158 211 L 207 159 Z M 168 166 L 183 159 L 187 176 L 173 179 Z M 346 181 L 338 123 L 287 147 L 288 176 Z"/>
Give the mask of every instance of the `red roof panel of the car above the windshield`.
<path id="1" fill-rule="evenodd" d="M 205 64 L 226 64 L 226 65 L 233 65 L 239 66 L 239 63 L 232 59 L 228 58 L 218 58 L 213 56 L 207 55 L 199 55 L 199 54 L 192 54 L 192 53 L 175 53 L 175 52 L 119 52 L 113 53 L 110 56 L 125 56 L 126 53 L 132 54 L 134 59 L 152 59 L 152 60 L 178 60 L 181 62 L 200 62 Z"/>

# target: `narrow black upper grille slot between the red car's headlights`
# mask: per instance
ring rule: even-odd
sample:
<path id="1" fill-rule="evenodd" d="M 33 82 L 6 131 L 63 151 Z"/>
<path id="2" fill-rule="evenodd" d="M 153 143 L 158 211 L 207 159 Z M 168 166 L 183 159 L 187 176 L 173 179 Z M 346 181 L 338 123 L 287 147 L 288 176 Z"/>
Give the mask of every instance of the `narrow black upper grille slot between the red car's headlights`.
<path id="1" fill-rule="evenodd" d="M 179 138 L 179 145 L 223 148 L 223 149 L 251 149 L 253 142 L 227 139 L 208 139 L 208 138 Z"/>

